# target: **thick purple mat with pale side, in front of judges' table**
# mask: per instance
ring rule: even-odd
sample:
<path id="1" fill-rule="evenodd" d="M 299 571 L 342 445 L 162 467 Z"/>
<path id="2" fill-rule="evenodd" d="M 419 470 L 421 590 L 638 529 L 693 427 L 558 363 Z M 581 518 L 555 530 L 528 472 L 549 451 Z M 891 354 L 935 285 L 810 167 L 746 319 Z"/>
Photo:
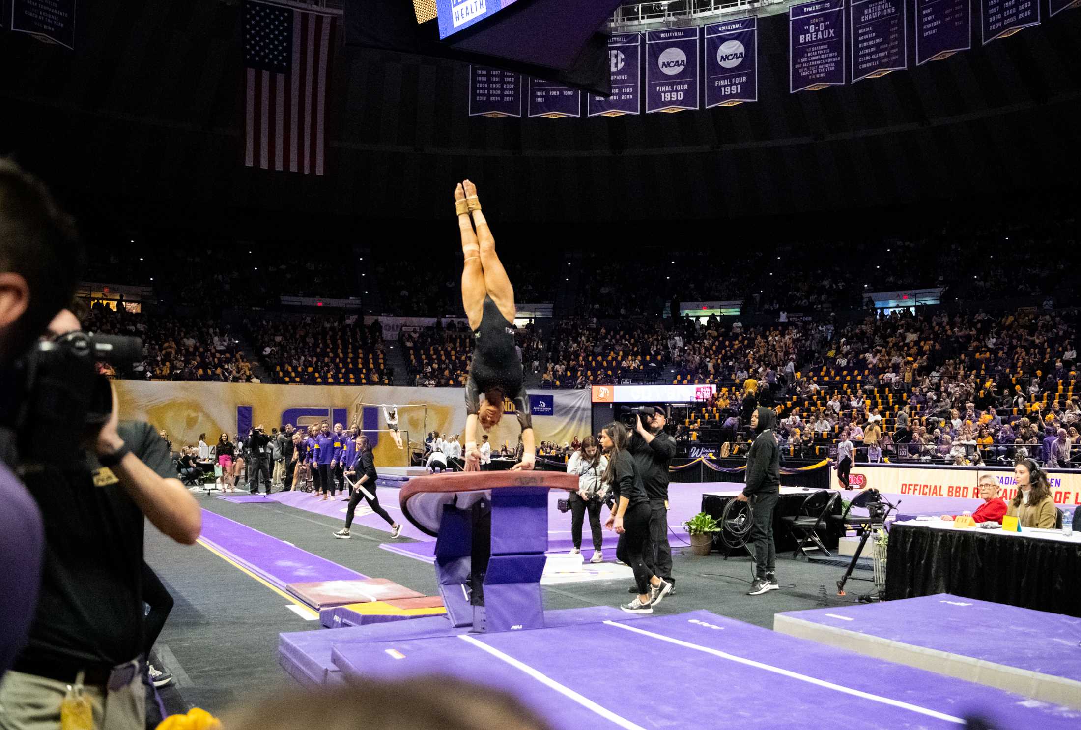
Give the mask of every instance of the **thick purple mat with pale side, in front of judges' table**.
<path id="1" fill-rule="evenodd" d="M 1010 640 L 989 636 L 998 627 Z M 1081 619 L 949 594 L 774 616 L 791 636 L 1081 709 Z"/>

